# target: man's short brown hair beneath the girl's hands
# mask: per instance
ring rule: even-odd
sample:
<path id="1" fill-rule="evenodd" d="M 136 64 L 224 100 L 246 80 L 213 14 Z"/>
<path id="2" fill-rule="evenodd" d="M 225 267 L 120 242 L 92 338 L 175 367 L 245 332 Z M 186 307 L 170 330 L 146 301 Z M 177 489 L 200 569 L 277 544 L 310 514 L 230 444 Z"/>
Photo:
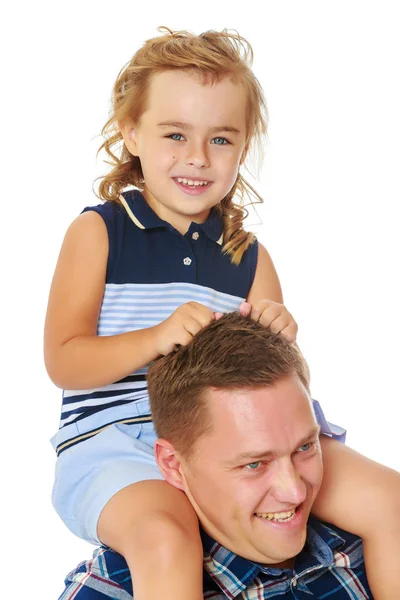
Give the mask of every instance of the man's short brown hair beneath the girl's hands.
<path id="1" fill-rule="evenodd" d="M 211 430 L 207 390 L 271 386 L 292 374 L 308 391 L 307 363 L 296 345 L 250 317 L 226 314 L 151 365 L 147 381 L 157 435 L 189 458 L 198 438 Z"/>

